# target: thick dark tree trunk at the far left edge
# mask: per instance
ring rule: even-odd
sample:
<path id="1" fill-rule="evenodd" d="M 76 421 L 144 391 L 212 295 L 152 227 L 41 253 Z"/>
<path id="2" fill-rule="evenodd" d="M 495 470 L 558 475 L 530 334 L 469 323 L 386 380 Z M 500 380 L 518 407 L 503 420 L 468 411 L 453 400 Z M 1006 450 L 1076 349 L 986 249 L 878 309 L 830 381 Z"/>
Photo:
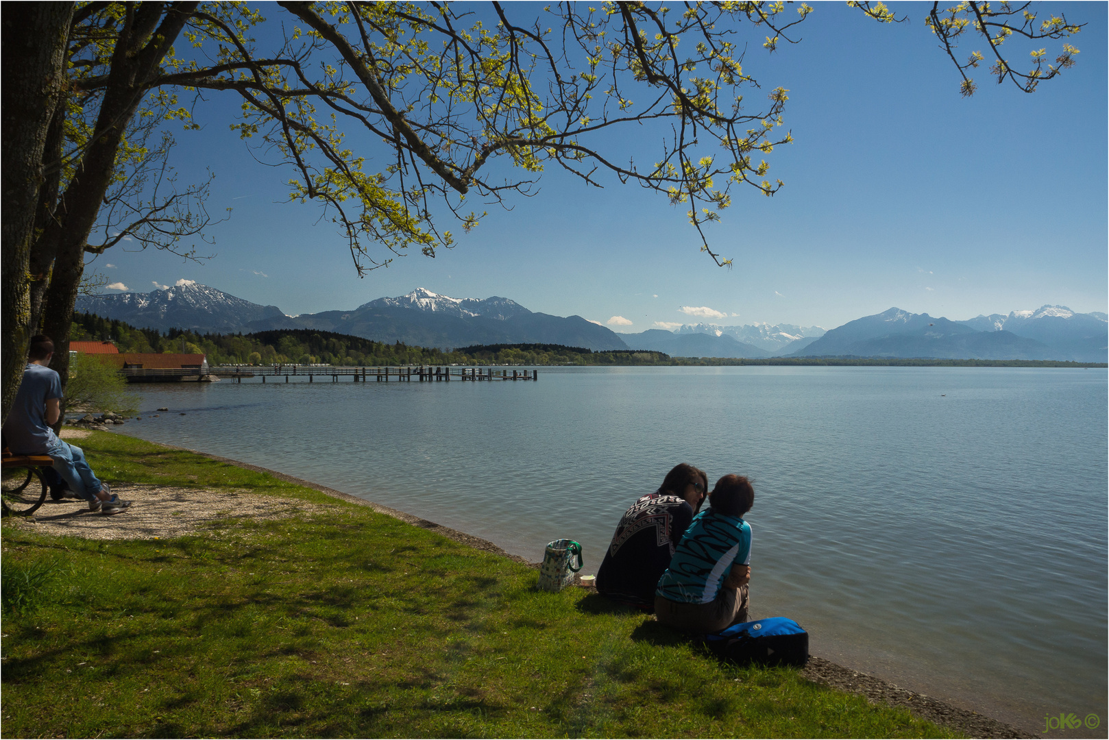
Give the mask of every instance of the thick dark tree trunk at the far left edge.
<path id="1" fill-rule="evenodd" d="M 3 9 L 3 122 L 0 158 L 0 386 L 3 418 L 23 378 L 31 337 L 29 274 L 34 213 L 43 180 L 42 152 L 65 90 L 64 51 L 72 2 L 19 2 Z"/>

